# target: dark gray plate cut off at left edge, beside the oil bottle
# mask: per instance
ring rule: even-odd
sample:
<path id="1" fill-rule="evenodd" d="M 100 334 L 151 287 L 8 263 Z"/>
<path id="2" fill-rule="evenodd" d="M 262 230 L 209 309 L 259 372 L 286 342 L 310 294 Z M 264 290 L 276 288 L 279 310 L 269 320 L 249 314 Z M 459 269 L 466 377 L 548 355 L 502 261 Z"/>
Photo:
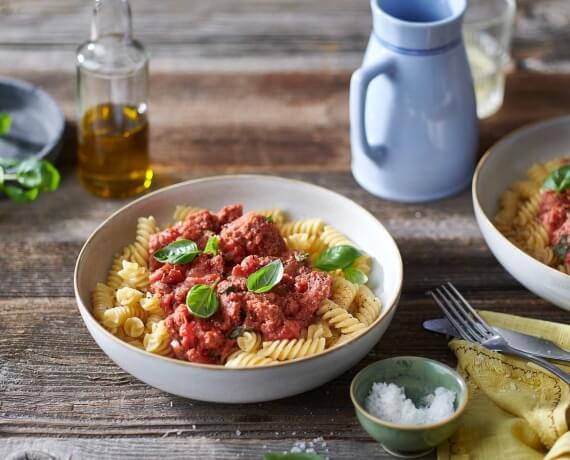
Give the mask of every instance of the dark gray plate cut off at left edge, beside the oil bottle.
<path id="1" fill-rule="evenodd" d="M 51 96 L 26 81 L 0 78 L 0 112 L 12 117 L 10 132 L 0 137 L 0 157 L 56 159 L 65 117 Z"/>

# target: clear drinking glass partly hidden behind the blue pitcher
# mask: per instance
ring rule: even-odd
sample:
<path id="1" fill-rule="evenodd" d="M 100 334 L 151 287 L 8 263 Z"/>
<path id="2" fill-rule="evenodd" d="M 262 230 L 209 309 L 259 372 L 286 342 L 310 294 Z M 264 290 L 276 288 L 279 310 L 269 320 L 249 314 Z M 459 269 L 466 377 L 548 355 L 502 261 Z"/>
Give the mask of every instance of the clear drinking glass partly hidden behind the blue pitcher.
<path id="1" fill-rule="evenodd" d="M 510 60 L 515 0 L 470 0 L 463 39 L 473 75 L 477 115 L 486 118 L 503 104 Z"/>

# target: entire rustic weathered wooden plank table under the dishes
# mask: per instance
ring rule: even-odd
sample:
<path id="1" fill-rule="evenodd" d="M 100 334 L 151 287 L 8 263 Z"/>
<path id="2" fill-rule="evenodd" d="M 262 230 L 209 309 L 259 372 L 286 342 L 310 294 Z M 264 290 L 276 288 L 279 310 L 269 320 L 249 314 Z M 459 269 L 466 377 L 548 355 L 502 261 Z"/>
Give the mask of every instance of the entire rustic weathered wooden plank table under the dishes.
<path id="1" fill-rule="evenodd" d="M 126 203 L 90 196 L 74 174 L 72 45 L 85 36 L 86 3 L 0 0 L 0 74 L 40 84 L 69 120 L 61 189 L 29 206 L 0 202 L 0 458 L 139 459 L 168 452 L 180 459 L 259 459 L 319 437 L 326 447 L 319 442 L 317 450 L 332 459 L 386 458 L 359 427 L 348 385 L 363 366 L 389 356 L 454 364 L 445 339 L 421 328 L 439 314 L 426 289 L 452 280 L 480 308 L 568 321 L 567 312 L 537 299 L 499 266 L 481 238 L 469 191 L 403 205 L 354 183 L 347 85 L 369 27 L 366 2 L 202 0 L 190 7 L 141 0 L 133 2 L 136 25 L 155 53 L 156 186 L 258 172 L 332 188 L 392 232 L 405 284 L 374 350 L 309 393 L 264 404 L 208 404 L 132 378 L 95 345 L 73 298 L 81 245 Z M 528 72 L 568 69 L 569 29 L 560 17 L 569 7 L 562 0 L 520 4 L 518 70 L 509 76 L 503 109 L 481 124 L 481 151 L 514 128 L 570 109 L 570 76 Z"/>

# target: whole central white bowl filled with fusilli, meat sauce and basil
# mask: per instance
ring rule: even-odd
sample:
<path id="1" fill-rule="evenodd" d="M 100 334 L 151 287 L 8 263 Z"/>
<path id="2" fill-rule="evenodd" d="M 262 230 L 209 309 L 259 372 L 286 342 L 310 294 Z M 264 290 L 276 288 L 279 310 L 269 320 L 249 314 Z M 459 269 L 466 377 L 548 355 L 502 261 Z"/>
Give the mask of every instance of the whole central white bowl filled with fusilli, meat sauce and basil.
<path id="1" fill-rule="evenodd" d="M 390 324 L 402 278 L 394 240 L 353 201 L 242 175 L 117 211 L 85 243 L 74 281 L 89 332 L 120 367 L 173 394 L 242 403 L 356 364 Z"/>

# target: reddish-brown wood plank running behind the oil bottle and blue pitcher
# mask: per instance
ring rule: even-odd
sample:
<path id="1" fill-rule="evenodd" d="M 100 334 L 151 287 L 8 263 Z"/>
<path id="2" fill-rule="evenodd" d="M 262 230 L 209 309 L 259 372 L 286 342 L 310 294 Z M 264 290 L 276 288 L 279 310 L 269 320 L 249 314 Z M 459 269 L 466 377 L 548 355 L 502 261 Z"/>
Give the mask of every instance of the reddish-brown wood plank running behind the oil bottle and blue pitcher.
<path id="1" fill-rule="evenodd" d="M 73 78 L 20 76 L 62 105 L 70 120 L 62 161 L 74 164 Z M 348 82 L 344 71 L 154 75 L 151 155 L 157 183 L 220 172 L 348 171 Z M 479 151 L 524 124 L 566 114 L 569 85 L 567 75 L 511 74 L 503 108 L 481 123 Z"/>

